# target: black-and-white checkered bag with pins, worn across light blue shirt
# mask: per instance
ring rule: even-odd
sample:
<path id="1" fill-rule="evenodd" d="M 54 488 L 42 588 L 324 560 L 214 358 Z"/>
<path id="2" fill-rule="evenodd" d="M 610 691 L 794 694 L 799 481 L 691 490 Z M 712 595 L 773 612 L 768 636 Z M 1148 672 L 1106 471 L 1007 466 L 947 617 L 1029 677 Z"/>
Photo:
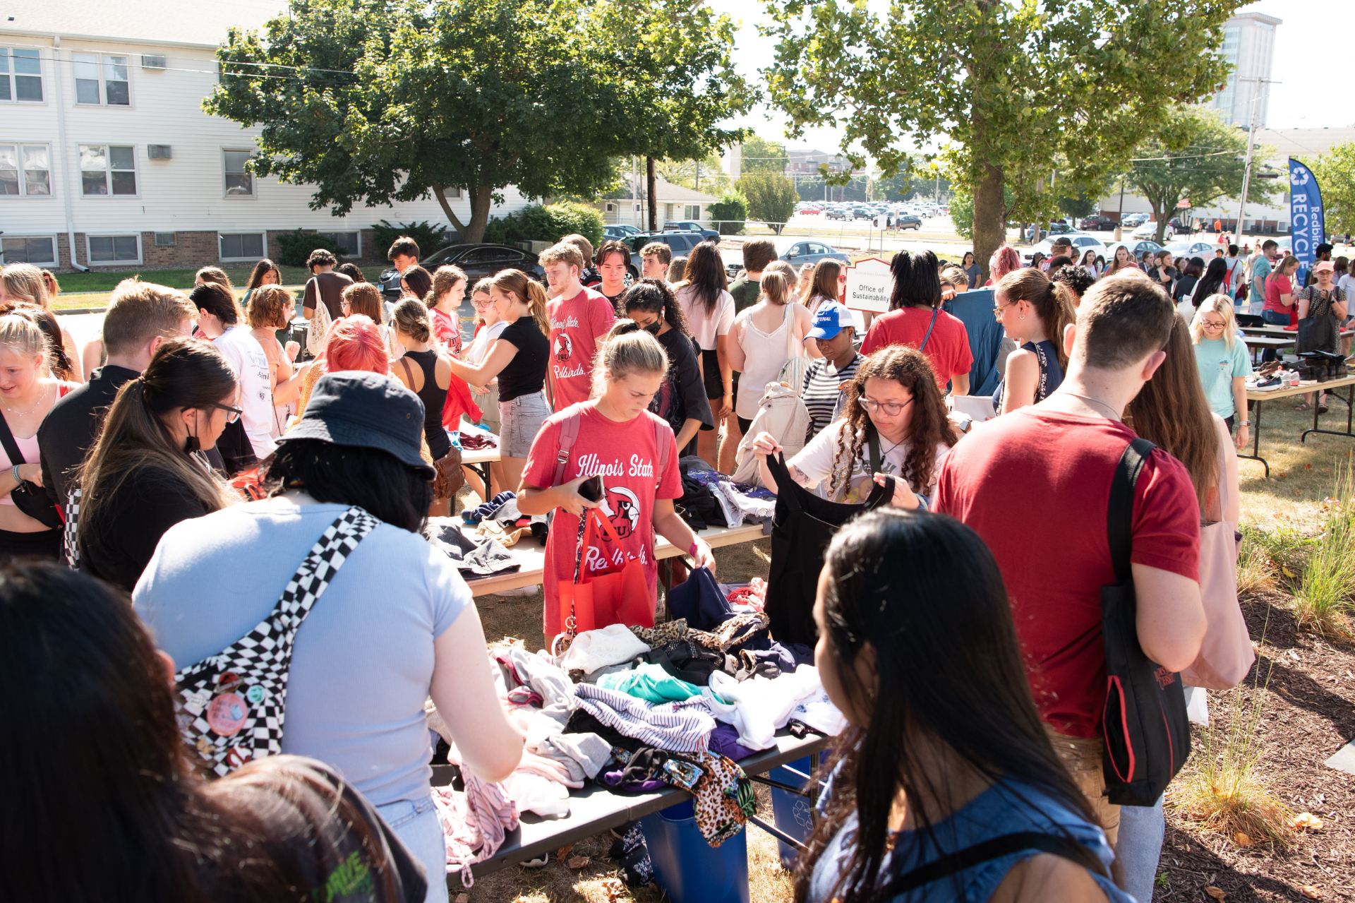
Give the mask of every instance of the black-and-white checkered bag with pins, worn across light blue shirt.
<path id="1" fill-rule="evenodd" d="M 267 618 L 221 652 L 175 674 L 188 746 L 218 776 L 282 752 L 287 671 L 297 630 L 377 518 L 348 508 L 325 529 Z"/>

